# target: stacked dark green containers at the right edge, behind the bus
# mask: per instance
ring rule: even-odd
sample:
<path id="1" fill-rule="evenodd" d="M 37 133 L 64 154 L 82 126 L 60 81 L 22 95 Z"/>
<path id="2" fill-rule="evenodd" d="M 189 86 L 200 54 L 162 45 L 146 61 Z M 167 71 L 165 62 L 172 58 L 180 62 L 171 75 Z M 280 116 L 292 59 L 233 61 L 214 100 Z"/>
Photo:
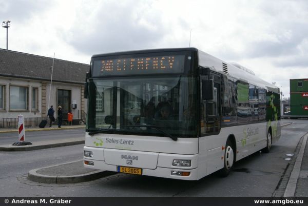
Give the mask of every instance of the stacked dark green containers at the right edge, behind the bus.
<path id="1" fill-rule="evenodd" d="M 290 79 L 290 109 L 293 117 L 308 117 L 308 79 Z"/>

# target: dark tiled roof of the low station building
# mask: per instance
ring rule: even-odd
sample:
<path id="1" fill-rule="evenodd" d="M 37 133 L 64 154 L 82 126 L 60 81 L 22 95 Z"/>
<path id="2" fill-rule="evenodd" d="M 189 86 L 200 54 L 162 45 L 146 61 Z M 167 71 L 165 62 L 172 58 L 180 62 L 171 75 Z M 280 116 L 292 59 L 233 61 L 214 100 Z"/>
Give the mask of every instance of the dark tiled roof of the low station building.
<path id="1" fill-rule="evenodd" d="M 53 58 L 0 49 L 0 76 L 50 81 Z M 54 59 L 52 81 L 82 84 L 89 65 Z"/>

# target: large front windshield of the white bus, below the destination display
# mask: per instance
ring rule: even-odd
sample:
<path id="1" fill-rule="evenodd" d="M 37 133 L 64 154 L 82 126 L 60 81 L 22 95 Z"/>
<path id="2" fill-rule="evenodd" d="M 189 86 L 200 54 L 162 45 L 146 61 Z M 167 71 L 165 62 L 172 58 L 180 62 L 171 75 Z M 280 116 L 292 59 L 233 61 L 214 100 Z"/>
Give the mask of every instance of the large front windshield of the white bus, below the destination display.
<path id="1" fill-rule="evenodd" d="M 90 79 L 87 131 L 197 137 L 197 91 L 184 75 Z"/>

